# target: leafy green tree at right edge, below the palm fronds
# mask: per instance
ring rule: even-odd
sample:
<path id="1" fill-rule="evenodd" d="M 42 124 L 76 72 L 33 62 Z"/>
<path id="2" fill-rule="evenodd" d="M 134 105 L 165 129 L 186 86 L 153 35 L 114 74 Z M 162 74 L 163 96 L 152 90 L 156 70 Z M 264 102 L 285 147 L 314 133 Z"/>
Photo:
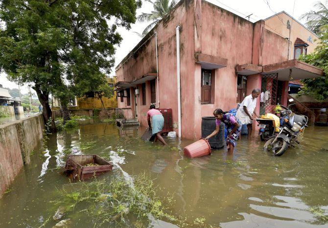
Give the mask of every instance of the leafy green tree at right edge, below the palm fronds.
<path id="1" fill-rule="evenodd" d="M 322 101 L 328 98 L 328 25 L 324 26 L 324 32 L 321 34 L 320 39 L 321 42 L 315 48 L 315 51 L 311 54 L 301 56 L 300 59 L 322 68 L 325 76 L 302 80 L 304 88 L 300 93 L 313 95 L 316 99 Z"/>

